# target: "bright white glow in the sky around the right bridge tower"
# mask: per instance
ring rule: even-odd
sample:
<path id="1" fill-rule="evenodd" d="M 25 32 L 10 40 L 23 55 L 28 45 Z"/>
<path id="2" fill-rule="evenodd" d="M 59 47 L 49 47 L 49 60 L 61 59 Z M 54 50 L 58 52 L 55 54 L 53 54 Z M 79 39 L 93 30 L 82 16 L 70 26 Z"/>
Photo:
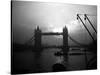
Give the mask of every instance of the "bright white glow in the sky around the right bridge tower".
<path id="1" fill-rule="evenodd" d="M 59 26 L 55 26 L 55 25 L 49 25 L 49 31 L 50 32 L 58 32 L 58 33 L 62 33 L 63 32 L 63 27 L 67 27 L 68 29 L 68 34 L 74 34 L 77 31 L 79 31 L 81 29 L 79 21 L 78 20 L 73 20 L 70 21 L 68 24 L 63 24 L 63 25 L 59 25 Z M 54 36 L 56 38 L 61 38 L 62 39 L 62 35 L 59 36 Z"/>

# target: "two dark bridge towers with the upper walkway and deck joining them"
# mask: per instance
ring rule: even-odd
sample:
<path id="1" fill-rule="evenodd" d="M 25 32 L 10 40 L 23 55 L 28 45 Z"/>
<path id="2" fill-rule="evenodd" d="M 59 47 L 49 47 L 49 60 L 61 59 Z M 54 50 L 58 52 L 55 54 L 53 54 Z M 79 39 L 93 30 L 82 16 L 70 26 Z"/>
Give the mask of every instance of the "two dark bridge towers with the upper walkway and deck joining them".
<path id="1" fill-rule="evenodd" d="M 63 36 L 63 45 L 62 46 L 48 46 L 48 47 L 43 47 L 42 46 L 42 42 L 41 42 L 41 39 L 42 39 L 42 36 L 52 36 L 52 35 L 62 35 Z M 41 50 L 42 48 L 62 48 L 62 50 L 64 52 L 67 52 L 68 51 L 68 29 L 67 27 L 64 27 L 63 28 L 63 32 L 61 33 L 58 33 L 58 32 L 42 32 L 40 30 L 39 27 L 37 27 L 35 29 L 35 35 L 34 35 L 34 38 L 35 38 L 35 44 L 34 44 L 34 47 L 36 50 Z"/>

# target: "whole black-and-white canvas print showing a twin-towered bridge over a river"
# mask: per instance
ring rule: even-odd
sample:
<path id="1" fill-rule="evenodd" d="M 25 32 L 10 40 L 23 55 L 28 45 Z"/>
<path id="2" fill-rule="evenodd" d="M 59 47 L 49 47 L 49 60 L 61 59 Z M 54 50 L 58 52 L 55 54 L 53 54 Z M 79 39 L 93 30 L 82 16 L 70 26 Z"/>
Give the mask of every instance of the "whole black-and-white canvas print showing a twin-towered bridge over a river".
<path id="1" fill-rule="evenodd" d="M 11 74 L 96 69 L 96 5 L 11 0 Z"/>

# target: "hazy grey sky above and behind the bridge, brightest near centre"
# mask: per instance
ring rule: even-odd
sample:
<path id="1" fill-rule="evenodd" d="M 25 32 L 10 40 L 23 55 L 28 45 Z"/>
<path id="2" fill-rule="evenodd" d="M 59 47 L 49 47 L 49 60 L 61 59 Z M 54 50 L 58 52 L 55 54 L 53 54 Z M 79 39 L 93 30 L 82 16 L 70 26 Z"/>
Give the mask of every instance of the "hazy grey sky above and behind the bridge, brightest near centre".
<path id="1" fill-rule="evenodd" d="M 25 43 L 33 35 L 36 26 L 43 32 L 61 32 L 66 25 L 69 35 L 80 43 L 88 44 L 92 41 L 84 26 L 76 18 L 76 14 L 97 15 L 97 7 L 90 5 L 73 5 L 66 3 L 47 3 L 31 1 L 13 1 L 12 3 L 12 28 L 13 40 L 16 43 Z M 83 18 L 83 16 L 81 16 Z M 89 16 L 94 27 L 97 27 L 97 17 Z M 90 32 L 95 37 L 93 29 L 86 22 Z M 44 40 L 45 39 L 45 40 Z M 43 37 L 44 44 L 62 44 L 62 37 Z M 87 41 L 87 42 L 86 42 Z M 34 41 L 33 41 L 34 42 Z M 69 39 L 69 44 L 74 43 Z"/>

